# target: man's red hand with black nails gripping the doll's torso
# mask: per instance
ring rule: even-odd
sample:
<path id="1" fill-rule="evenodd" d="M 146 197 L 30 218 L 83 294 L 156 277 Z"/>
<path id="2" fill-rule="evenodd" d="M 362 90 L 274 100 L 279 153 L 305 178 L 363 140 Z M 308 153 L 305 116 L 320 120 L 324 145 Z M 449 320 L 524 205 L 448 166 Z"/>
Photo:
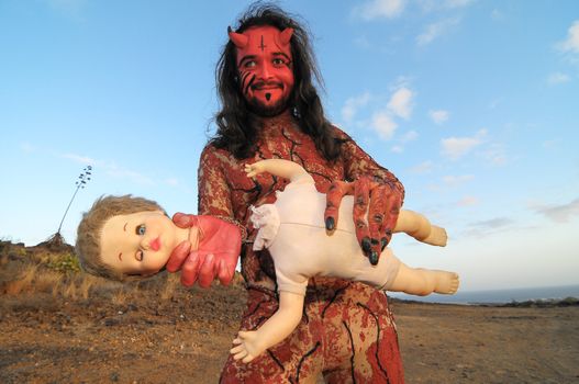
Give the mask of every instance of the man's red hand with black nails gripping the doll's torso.
<path id="1" fill-rule="evenodd" d="M 339 204 L 346 194 L 354 195 L 353 215 L 358 242 L 370 263 L 376 266 L 381 251 L 392 238 L 402 196 L 393 187 L 368 177 L 354 182 L 334 181 L 326 193 L 324 219 L 327 230 L 336 227 Z"/>

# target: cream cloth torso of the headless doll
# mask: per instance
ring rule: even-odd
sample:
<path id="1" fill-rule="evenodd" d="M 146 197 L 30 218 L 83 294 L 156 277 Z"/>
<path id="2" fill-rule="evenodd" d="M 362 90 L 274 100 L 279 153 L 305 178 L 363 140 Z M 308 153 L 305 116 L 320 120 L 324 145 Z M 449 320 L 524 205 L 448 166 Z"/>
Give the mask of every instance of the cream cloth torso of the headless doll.
<path id="1" fill-rule="evenodd" d="M 363 253 L 352 219 L 352 200 L 339 207 L 338 225 L 329 236 L 323 222 L 325 195 L 310 174 L 277 192 L 274 204 L 252 207 L 252 223 L 259 228 L 254 250 L 268 248 L 274 259 L 278 291 L 304 295 L 314 275 L 360 281 L 388 289 L 400 260 L 386 248 L 376 267 Z"/>

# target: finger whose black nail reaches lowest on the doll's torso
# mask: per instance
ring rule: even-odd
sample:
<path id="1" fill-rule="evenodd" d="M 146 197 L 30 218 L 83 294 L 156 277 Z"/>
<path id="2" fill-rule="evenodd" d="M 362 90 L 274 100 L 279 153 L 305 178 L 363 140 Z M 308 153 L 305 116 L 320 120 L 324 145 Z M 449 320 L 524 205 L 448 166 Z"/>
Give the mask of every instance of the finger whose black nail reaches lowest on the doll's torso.
<path id="1" fill-rule="evenodd" d="M 390 189 L 371 183 L 370 184 L 370 202 L 368 207 L 368 229 L 370 234 L 371 255 L 379 255 L 388 244 L 388 238 L 385 235 L 385 219 L 386 219 L 386 203 Z M 371 262 L 372 260 L 370 260 Z M 375 260 L 378 262 L 378 260 Z M 374 262 L 372 262 L 374 264 Z"/>

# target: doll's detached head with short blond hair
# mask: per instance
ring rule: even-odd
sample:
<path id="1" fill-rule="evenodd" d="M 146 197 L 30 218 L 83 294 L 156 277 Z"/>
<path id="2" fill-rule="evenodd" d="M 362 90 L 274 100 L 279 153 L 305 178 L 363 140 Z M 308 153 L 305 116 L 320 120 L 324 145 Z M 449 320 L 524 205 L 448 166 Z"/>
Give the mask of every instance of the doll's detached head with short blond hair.
<path id="1" fill-rule="evenodd" d="M 85 271 L 124 281 L 160 271 L 175 242 L 175 225 L 157 203 L 102 196 L 78 225 L 76 252 Z"/>

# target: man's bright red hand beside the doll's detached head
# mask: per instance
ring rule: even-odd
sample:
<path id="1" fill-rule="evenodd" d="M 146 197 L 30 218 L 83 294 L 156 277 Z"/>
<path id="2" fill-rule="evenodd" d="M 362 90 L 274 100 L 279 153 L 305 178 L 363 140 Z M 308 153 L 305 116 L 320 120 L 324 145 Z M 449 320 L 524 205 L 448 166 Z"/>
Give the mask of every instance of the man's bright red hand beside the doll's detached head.
<path id="1" fill-rule="evenodd" d="M 200 286 L 209 287 L 215 278 L 227 285 L 235 273 L 242 248 L 240 228 L 213 216 L 182 213 L 176 213 L 172 222 L 181 228 L 198 226 L 199 248 L 191 250 L 188 240 L 179 244 L 169 257 L 167 270 L 181 270 L 181 284 L 185 286 L 191 286 L 197 281 Z"/>

